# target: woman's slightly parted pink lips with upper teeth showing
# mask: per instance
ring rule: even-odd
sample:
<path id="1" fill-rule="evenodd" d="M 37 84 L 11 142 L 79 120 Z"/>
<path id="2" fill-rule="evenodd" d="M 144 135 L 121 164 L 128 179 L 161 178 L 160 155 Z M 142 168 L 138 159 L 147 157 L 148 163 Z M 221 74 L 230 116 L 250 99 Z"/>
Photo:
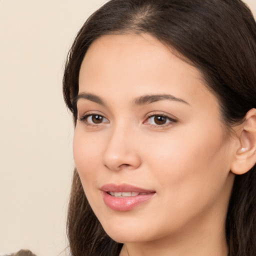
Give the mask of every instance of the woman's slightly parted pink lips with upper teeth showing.
<path id="1" fill-rule="evenodd" d="M 154 194 L 154 190 L 140 187 L 113 183 L 103 185 L 100 190 L 106 206 L 117 211 L 128 211 L 148 201 Z"/>

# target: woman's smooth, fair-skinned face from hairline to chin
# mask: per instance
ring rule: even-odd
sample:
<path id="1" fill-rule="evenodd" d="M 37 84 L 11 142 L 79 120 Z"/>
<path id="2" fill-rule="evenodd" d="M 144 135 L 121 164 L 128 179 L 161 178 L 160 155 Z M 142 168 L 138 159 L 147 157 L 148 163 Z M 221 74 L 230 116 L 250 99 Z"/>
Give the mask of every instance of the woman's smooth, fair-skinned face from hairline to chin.
<path id="1" fill-rule="evenodd" d="M 154 37 L 104 35 L 79 73 L 74 161 L 116 241 L 224 229 L 234 142 L 200 72 Z"/>

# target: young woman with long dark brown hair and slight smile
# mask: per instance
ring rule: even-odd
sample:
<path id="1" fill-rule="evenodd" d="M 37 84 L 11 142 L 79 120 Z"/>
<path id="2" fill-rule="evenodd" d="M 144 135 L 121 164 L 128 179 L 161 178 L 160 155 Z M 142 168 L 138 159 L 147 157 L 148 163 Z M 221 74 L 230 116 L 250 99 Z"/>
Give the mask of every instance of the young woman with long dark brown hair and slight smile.
<path id="1" fill-rule="evenodd" d="M 240 0 L 110 0 L 67 58 L 72 255 L 256 253 L 256 24 Z"/>

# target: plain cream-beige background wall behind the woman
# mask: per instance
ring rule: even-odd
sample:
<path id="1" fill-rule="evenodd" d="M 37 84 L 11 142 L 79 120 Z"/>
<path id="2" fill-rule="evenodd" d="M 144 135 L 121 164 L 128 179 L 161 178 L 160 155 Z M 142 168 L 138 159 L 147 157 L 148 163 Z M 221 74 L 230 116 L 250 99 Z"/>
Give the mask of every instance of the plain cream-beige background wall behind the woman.
<path id="1" fill-rule="evenodd" d="M 67 50 L 106 0 L 0 0 L 0 255 L 67 245 L 72 122 L 62 100 Z M 256 0 L 246 0 L 256 13 Z"/>

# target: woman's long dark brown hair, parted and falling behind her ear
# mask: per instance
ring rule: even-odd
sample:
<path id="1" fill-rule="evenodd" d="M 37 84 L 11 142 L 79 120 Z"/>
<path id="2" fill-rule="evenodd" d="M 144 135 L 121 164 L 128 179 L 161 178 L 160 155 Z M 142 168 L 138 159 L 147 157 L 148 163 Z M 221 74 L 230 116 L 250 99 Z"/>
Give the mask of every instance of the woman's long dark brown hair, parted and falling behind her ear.
<path id="1" fill-rule="evenodd" d="M 256 24 L 241 0 L 110 0 L 83 24 L 69 51 L 63 77 L 66 105 L 77 119 L 81 62 L 104 34 L 149 33 L 198 68 L 216 95 L 225 127 L 256 107 Z M 74 170 L 67 219 L 73 256 L 118 255 L 92 212 Z M 256 253 L 256 167 L 236 175 L 226 216 L 229 256 Z"/>

